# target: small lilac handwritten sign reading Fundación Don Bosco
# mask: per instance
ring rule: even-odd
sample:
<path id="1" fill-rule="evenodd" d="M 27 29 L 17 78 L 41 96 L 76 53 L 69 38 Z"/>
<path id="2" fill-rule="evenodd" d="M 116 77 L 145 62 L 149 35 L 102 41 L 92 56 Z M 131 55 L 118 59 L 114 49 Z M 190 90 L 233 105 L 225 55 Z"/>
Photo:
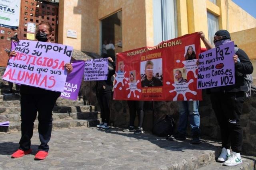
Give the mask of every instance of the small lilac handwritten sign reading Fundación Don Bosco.
<path id="1" fill-rule="evenodd" d="M 108 58 L 87 60 L 84 66 L 84 81 L 107 80 Z"/>

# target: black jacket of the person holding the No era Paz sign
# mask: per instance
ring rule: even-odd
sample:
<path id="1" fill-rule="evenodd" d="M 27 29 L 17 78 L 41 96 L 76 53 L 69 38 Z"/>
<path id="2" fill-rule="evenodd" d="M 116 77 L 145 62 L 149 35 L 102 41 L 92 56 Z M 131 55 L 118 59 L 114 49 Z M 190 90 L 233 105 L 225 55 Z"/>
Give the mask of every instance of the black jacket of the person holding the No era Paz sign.
<path id="1" fill-rule="evenodd" d="M 240 92 L 248 90 L 245 84 L 244 76 L 245 74 L 252 74 L 252 63 L 250 62 L 248 55 L 242 49 L 238 49 L 236 55 L 238 55 L 240 61 L 235 64 L 235 84 L 210 88 L 210 92 Z"/>

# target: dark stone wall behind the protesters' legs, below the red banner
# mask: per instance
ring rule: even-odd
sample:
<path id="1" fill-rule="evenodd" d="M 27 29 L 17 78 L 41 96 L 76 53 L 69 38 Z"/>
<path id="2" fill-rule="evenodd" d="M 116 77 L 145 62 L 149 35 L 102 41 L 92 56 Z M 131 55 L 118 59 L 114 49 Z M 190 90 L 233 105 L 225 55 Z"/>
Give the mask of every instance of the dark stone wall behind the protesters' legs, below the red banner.
<path id="1" fill-rule="evenodd" d="M 89 104 L 96 106 L 96 110 L 100 111 L 93 88 L 95 84 L 95 82 L 83 82 L 82 93 L 84 94 L 84 100 L 88 100 Z M 210 95 L 206 94 L 204 90 L 202 94 L 203 101 L 199 103 L 202 138 L 220 141 L 220 129 L 212 109 Z M 178 122 L 179 114 L 176 102 L 145 102 L 144 109 L 143 127 L 147 131 L 152 130 L 154 121 L 164 118 L 166 114 L 173 115 L 176 122 Z M 129 107 L 126 101 L 112 101 L 110 119 L 111 124 L 116 127 L 124 128 L 128 126 Z M 135 125 L 138 125 L 137 117 Z M 256 91 L 252 91 L 252 97 L 244 103 L 241 125 L 244 132 L 243 153 L 256 155 Z M 187 131 L 188 135 L 191 135 L 189 125 Z"/>

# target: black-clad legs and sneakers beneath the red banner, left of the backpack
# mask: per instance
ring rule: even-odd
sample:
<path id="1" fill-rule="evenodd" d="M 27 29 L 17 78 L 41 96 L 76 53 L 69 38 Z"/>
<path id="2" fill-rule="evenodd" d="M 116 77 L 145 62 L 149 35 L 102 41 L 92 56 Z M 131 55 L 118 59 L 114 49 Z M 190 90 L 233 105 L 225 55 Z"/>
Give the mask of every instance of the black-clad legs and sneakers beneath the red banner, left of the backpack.
<path id="1" fill-rule="evenodd" d="M 143 119 L 144 119 L 144 111 L 143 111 L 144 101 L 128 100 L 127 104 L 129 106 L 129 110 L 130 110 L 130 125 L 123 131 L 124 132 L 134 132 L 134 134 L 144 133 L 144 131 L 142 129 L 142 124 L 143 124 Z M 134 127 L 136 111 L 137 111 L 138 118 L 139 118 L 139 125 L 138 125 L 137 129 L 135 129 L 135 127 Z"/>

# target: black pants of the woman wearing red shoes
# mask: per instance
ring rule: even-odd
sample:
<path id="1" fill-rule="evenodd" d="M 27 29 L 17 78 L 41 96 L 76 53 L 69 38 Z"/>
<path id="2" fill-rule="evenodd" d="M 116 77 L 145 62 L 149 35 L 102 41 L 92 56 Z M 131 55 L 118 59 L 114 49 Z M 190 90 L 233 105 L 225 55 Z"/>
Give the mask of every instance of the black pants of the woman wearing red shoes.
<path id="1" fill-rule="evenodd" d="M 52 134 L 52 109 L 59 92 L 49 92 L 46 94 L 21 94 L 21 139 L 20 149 L 30 149 L 34 129 L 34 121 L 38 111 L 38 133 L 41 145 L 38 150 L 48 152 Z"/>

